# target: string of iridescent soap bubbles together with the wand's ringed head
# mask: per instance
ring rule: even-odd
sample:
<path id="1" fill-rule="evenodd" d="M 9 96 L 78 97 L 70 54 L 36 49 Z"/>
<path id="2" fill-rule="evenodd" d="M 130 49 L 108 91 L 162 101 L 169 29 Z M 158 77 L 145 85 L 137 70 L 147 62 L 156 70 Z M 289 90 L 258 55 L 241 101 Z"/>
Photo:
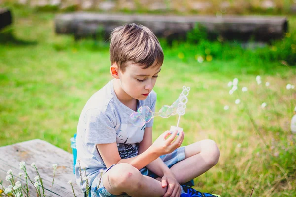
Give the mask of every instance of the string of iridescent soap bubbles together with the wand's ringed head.
<path id="1" fill-rule="evenodd" d="M 152 118 L 160 116 L 162 118 L 168 118 L 172 115 L 178 114 L 182 116 L 185 114 L 186 103 L 188 102 L 188 94 L 190 87 L 183 86 L 182 93 L 179 98 L 171 105 L 164 105 L 159 112 L 153 113 L 148 106 L 141 106 L 136 112 L 130 115 L 130 122 L 139 127 L 143 127 L 145 123 L 148 123 Z"/>

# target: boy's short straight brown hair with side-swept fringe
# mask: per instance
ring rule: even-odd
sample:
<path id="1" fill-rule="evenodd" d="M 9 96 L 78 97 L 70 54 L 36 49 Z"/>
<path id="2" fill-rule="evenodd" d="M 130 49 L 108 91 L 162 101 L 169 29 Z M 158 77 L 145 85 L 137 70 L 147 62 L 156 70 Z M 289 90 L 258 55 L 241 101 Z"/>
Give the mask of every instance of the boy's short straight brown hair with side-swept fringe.
<path id="1" fill-rule="evenodd" d="M 117 27 L 110 38 L 111 65 L 116 63 L 122 72 L 128 62 L 139 64 L 144 69 L 152 65 L 161 66 L 163 63 L 163 51 L 159 41 L 154 33 L 143 25 L 132 23 Z"/>

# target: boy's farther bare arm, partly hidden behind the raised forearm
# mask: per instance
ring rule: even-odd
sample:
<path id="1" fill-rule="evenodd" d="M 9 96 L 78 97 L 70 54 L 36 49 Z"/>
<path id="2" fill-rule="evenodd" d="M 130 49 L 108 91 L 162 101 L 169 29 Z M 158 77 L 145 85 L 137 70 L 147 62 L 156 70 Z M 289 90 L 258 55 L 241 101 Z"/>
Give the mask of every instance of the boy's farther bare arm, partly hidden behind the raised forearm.
<path id="1" fill-rule="evenodd" d="M 146 127 L 143 140 L 139 144 L 139 155 L 142 155 L 147 151 L 152 145 L 152 127 Z M 164 174 L 172 174 L 171 170 L 164 164 L 164 162 L 158 157 L 157 159 L 150 162 L 146 167 L 158 175 L 163 177 Z"/>

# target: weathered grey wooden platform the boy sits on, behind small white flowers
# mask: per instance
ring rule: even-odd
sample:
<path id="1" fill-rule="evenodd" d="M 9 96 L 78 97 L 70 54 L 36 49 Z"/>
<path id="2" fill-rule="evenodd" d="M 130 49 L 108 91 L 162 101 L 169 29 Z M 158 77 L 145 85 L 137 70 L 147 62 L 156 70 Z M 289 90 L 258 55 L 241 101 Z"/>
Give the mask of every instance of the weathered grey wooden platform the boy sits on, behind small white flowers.
<path id="1" fill-rule="evenodd" d="M 52 164 L 58 164 L 51 196 L 73 197 L 71 186 L 68 184 L 69 180 L 72 180 L 76 196 L 83 196 L 82 191 L 76 184 L 75 175 L 73 174 L 73 156 L 71 153 L 55 147 L 46 141 L 34 139 L 0 147 L 0 155 L 0 180 L 3 180 L 4 187 L 10 185 L 10 182 L 5 181 L 9 169 L 12 170 L 14 177 L 18 177 L 18 173 L 23 172 L 19 169 L 19 163 L 22 161 L 26 163 L 28 175 L 31 180 L 34 181 L 34 177 L 37 176 L 37 174 L 35 169 L 31 167 L 31 164 L 35 162 L 40 176 L 43 179 L 45 195 L 49 196 L 53 178 Z M 23 176 L 21 179 L 19 177 L 17 179 L 22 182 L 23 186 L 25 185 L 26 180 Z M 28 183 L 28 185 L 30 196 L 37 197 L 34 186 L 31 183 Z"/>

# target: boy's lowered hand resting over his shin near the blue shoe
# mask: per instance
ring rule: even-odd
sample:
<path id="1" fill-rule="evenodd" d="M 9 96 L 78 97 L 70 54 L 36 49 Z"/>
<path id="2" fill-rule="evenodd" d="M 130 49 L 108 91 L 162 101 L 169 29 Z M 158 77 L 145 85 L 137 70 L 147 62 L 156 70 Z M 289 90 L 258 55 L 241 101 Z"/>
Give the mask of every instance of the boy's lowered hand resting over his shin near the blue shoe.
<path id="1" fill-rule="evenodd" d="M 180 197 L 181 187 L 174 175 L 164 174 L 161 178 L 161 186 L 163 188 L 166 186 L 168 187 L 163 197 Z"/>

